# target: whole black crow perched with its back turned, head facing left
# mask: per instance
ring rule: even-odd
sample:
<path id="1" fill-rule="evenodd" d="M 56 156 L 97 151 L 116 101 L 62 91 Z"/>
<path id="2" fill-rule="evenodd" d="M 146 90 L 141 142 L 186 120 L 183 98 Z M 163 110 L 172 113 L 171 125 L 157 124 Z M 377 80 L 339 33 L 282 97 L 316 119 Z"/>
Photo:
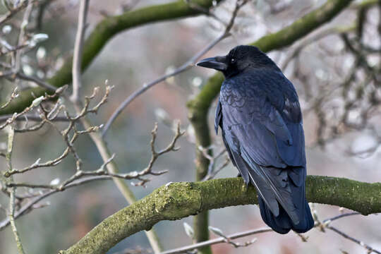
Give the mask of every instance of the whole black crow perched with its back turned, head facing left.
<path id="1" fill-rule="evenodd" d="M 238 46 L 198 66 L 225 76 L 214 128 L 246 184 L 258 191 L 260 214 L 274 231 L 303 233 L 314 221 L 305 195 L 306 152 L 294 85 L 265 53 Z"/>

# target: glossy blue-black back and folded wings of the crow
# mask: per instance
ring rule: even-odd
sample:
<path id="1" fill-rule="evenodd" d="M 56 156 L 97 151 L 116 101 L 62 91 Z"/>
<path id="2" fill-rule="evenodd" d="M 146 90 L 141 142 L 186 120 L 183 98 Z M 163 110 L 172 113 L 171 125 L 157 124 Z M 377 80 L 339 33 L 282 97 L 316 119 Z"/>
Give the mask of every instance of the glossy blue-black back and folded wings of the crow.
<path id="1" fill-rule="evenodd" d="M 221 126 L 229 157 L 272 214 L 277 217 L 281 205 L 298 224 L 299 201 L 291 190 L 306 178 L 298 97 L 282 73 L 257 74 L 224 81 L 214 128 Z"/>

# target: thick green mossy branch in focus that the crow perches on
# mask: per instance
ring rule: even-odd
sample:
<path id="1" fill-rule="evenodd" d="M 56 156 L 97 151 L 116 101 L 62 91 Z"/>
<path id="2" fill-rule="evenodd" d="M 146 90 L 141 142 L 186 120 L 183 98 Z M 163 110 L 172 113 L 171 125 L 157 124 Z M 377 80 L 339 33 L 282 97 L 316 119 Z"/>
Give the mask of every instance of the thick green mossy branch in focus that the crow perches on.
<path id="1" fill-rule="evenodd" d="M 307 176 L 308 202 L 337 205 L 372 214 L 381 212 L 381 183 L 344 178 Z M 257 204 L 253 186 L 246 189 L 241 178 L 196 183 L 172 183 L 104 219 L 98 226 L 61 254 L 106 253 L 116 243 L 162 220 L 175 220 L 206 210 Z"/>

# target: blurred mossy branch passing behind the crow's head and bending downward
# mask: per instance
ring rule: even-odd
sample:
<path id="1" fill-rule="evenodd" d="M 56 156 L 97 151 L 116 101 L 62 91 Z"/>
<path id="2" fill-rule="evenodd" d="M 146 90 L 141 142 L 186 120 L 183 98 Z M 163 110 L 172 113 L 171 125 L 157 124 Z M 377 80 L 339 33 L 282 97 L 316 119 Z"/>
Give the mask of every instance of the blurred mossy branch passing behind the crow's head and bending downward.
<path id="1" fill-rule="evenodd" d="M 309 32 L 315 30 L 320 25 L 331 20 L 342 9 L 344 9 L 351 1 L 349 0 L 330 0 L 315 11 L 308 13 L 303 18 L 296 20 L 292 25 L 275 32 L 271 35 L 262 37 L 253 43 L 264 52 L 272 49 L 286 47 Z M 198 96 L 188 102 L 188 119 L 191 121 L 195 130 L 196 140 L 196 180 L 200 181 L 207 174 L 209 160 L 205 158 L 198 147 L 209 147 L 211 145 L 210 129 L 207 123 L 207 115 L 210 105 L 214 98 L 218 95 L 222 81 L 224 80 L 221 73 L 217 73 L 208 80 L 205 87 Z M 193 226 L 195 230 L 195 241 L 206 241 L 209 238 L 208 212 L 201 212 L 194 218 Z M 210 246 L 200 250 L 200 253 L 211 253 Z"/>

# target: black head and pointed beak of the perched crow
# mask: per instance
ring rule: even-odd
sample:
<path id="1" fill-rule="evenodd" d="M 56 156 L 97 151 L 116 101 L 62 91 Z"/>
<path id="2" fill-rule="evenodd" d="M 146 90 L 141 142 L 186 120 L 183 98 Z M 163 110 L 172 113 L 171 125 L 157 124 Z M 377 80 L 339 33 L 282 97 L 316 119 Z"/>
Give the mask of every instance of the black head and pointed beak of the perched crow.
<path id="1" fill-rule="evenodd" d="M 242 45 L 231 49 L 226 56 L 202 59 L 196 63 L 196 66 L 222 71 L 226 78 L 252 68 L 276 68 L 279 70 L 277 65 L 258 47 Z"/>

